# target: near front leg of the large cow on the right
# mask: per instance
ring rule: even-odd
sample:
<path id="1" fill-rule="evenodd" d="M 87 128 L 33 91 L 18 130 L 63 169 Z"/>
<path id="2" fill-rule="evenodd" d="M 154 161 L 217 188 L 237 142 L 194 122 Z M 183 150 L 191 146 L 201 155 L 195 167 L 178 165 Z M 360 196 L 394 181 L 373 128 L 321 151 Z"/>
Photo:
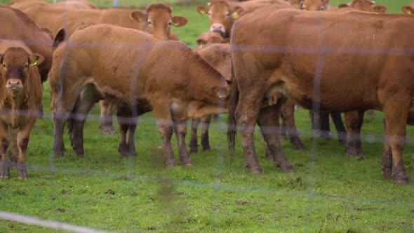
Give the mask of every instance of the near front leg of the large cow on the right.
<path id="1" fill-rule="evenodd" d="M 406 122 L 408 106 L 397 105 L 403 100 L 392 101 L 384 107 L 387 122 L 387 141 L 392 151 L 392 180 L 399 185 L 408 185 L 408 176 L 403 164 L 402 152 L 406 143 Z M 399 111 L 395 111 L 399 109 Z"/>

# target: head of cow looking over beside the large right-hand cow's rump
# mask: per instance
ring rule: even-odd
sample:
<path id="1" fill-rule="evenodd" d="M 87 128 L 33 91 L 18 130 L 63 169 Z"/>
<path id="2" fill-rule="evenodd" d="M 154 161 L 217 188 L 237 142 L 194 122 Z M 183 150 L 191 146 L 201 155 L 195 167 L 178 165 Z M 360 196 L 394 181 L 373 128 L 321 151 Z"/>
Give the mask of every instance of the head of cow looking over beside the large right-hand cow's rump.
<path id="1" fill-rule="evenodd" d="M 236 6 L 231 8 L 226 1 L 215 0 L 206 6 L 197 6 L 197 11 L 201 15 L 208 15 L 210 22 L 210 32 L 219 32 L 225 38 L 229 37 L 229 31 L 234 19 L 239 18 L 243 8 Z"/>

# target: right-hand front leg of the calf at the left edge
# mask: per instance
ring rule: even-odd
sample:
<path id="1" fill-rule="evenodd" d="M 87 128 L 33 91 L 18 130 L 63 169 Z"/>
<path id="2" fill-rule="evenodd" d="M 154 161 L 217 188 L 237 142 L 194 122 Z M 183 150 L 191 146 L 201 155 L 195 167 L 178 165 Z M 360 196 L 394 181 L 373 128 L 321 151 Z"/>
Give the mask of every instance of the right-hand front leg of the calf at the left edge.
<path id="1" fill-rule="evenodd" d="M 25 124 L 19 131 L 17 138 L 12 139 L 16 140 L 19 148 L 18 163 L 16 164 L 19 180 L 27 180 L 26 152 L 34 122 L 36 122 L 35 117 L 28 119 L 27 124 Z"/>

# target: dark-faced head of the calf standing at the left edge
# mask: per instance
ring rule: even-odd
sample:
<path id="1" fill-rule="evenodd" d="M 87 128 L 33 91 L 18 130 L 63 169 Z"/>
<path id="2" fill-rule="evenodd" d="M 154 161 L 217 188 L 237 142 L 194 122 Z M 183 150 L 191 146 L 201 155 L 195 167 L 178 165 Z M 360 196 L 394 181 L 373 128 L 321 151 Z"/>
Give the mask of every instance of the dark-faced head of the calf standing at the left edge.
<path id="1" fill-rule="evenodd" d="M 18 93 L 29 78 L 29 69 L 44 61 L 44 57 L 38 53 L 28 54 L 24 48 L 11 47 L 0 55 L 1 82 L 6 88 Z"/>

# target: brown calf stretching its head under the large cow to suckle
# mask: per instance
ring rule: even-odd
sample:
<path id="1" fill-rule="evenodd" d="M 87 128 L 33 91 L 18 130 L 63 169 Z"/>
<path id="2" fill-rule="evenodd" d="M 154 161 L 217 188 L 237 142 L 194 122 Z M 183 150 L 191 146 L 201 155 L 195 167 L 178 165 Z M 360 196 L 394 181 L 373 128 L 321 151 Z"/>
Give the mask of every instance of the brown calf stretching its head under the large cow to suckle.
<path id="1" fill-rule="evenodd" d="M 72 147 L 84 156 L 86 114 L 96 101 L 105 98 L 128 107 L 134 117 L 154 111 L 166 166 L 175 166 L 173 128 L 182 163 L 192 165 L 185 146 L 186 120 L 227 111 L 218 107 L 220 98 L 229 91 L 222 74 L 180 41 L 162 41 L 135 29 L 93 25 L 72 34 L 69 43 L 80 46 L 57 48 L 51 70 L 56 155 L 63 154 L 63 126 L 68 120 Z M 135 129 L 135 123 L 129 128 Z M 120 138 L 125 139 L 122 134 Z M 127 151 L 133 149 L 133 132 L 129 135 L 128 143 L 120 143 L 120 150 L 124 146 Z"/>

